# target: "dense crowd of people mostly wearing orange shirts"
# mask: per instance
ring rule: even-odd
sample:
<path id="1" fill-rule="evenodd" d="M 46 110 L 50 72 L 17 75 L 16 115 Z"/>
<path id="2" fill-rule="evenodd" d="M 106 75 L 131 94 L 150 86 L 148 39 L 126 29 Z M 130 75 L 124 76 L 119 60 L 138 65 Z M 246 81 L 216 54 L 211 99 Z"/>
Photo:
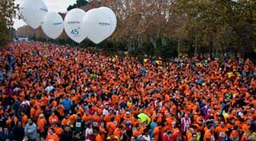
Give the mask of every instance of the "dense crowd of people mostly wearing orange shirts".
<path id="1" fill-rule="evenodd" d="M 0 59 L 0 141 L 256 140 L 250 59 L 139 62 L 43 42 Z"/>

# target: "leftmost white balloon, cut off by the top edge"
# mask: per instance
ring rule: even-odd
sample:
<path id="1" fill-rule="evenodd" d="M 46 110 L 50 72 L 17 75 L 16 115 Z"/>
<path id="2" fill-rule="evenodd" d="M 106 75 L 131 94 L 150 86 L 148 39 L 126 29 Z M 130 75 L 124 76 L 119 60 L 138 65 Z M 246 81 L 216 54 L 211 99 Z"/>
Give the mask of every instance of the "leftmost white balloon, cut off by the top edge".
<path id="1" fill-rule="evenodd" d="M 48 8 L 42 0 L 24 0 L 20 6 L 22 20 L 33 29 L 37 29 L 41 25 L 47 12 Z"/>

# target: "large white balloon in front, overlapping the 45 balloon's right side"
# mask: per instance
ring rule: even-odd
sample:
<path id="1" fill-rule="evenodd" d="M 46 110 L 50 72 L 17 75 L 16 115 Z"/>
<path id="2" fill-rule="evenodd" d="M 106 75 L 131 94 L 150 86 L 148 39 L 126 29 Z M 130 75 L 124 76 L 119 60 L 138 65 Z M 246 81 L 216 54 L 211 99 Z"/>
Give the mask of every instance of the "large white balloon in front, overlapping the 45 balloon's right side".
<path id="1" fill-rule="evenodd" d="M 111 36 L 113 23 L 108 14 L 99 8 L 90 9 L 84 15 L 83 25 L 84 33 L 92 42 L 100 43 Z"/>

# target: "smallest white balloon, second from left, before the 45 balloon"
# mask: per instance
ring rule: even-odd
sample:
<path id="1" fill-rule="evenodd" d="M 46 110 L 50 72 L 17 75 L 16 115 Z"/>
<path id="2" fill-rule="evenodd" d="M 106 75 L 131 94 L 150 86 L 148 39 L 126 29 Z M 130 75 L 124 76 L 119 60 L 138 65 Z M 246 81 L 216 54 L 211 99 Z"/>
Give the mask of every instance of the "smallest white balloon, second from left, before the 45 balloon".
<path id="1" fill-rule="evenodd" d="M 41 26 L 44 34 L 50 38 L 55 39 L 60 37 L 64 28 L 64 23 L 60 14 L 49 12 L 44 16 L 44 20 Z"/>

